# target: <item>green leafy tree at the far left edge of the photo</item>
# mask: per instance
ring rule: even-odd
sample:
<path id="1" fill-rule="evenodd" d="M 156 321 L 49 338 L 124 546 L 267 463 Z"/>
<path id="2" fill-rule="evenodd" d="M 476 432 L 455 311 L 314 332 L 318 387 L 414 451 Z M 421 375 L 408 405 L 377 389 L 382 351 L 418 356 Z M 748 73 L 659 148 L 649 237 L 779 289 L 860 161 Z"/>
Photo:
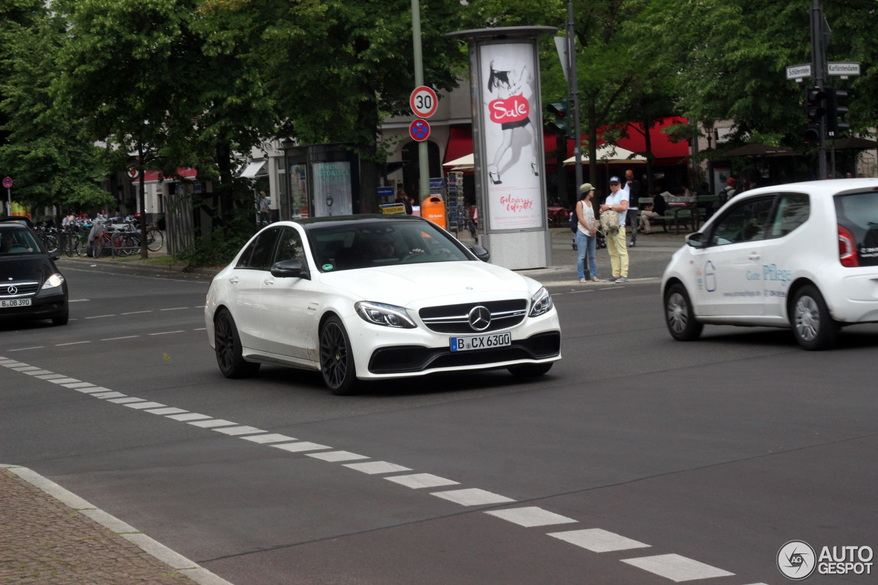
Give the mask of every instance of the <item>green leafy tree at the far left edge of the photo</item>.
<path id="1" fill-rule="evenodd" d="M 105 172 L 102 150 L 50 91 L 65 23 L 41 3 L 30 4 L 30 11 L 21 5 L 20 22 L 4 19 L 0 29 L 0 110 L 8 133 L 0 166 L 15 177 L 16 198 L 32 206 L 55 206 L 61 213 L 104 205 L 112 198 L 97 184 Z"/>

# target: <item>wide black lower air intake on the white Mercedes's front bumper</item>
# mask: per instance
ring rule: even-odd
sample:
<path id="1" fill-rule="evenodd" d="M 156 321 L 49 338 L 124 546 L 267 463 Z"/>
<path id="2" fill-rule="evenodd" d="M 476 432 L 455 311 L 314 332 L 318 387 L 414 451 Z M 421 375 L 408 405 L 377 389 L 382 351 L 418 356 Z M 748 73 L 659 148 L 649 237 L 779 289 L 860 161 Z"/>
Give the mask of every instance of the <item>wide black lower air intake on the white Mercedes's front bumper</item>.
<path id="1" fill-rule="evenodd" d="M 518 359 L 552 358 L 561 352 L 561 334 L 541 333 L 508 347 L 490 350 L 451 351 L 415 345 L 386 347 L 375 350 L 369 360 L 372 373 L 421 372 L 435 368 L 490 365 Z"/>

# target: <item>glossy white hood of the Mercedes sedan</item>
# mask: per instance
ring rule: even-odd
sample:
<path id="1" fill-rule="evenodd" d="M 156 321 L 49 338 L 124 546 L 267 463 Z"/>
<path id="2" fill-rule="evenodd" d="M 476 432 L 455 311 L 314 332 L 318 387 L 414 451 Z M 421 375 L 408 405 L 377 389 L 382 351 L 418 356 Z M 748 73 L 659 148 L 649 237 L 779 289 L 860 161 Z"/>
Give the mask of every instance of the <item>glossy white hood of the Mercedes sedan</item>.
<path id="1" fill-rule="evenodd" d="M 416 307 L 425 303 L 529 298 L 540 285 L 532 278 L 484 262 L 399 264 L 386 268 L 325 272 L 320 283 L 362 300 Z M 454 299 L 450 299 L 454 297 Z"/>

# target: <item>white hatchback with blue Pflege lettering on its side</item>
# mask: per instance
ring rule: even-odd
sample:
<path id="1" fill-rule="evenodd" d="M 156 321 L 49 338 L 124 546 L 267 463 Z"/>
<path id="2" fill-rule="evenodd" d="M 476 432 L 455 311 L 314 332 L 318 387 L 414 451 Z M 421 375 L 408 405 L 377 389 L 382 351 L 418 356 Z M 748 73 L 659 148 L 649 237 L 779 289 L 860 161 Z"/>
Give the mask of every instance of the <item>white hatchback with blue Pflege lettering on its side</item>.
<path id="1" fill-rule="evenodd" d="M 745 191 L 687 236 L 662 278 L 667 328 L 791 328 L 808 350 L 841 326 L 878 321 L 878 179 Z"/>

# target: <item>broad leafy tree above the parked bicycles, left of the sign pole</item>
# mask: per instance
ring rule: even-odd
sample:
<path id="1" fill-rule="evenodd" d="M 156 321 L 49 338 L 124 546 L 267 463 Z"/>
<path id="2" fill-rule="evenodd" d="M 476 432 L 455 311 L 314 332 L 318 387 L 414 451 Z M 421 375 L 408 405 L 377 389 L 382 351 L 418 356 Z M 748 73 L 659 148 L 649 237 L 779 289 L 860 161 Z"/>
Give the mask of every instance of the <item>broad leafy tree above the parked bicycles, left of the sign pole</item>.
<path id="1" fill-rule="evenodd" d="M 97 139 L 138 153 L 141 170 L 163 170 L 170 177 L 189 166 L 198 170 L 199 180 L 214 181 L 210 209 L 215 225 L 226 229 L 215 242 L 226 251 L 236 246 L 248 235 L 239 210 L 249 210 L 252 201 L 234 181 L 233 155 L 248 152 L 260 135 L 273 134 L 277 119 L 261 70 L 248 69 L 253 62 L 238 58 L 240 43 L 219 38 L 205 25 L 212 11 L 241 3 L 58 4 L 70 23 L 59 95 Z M 142 207 L 142 186 L 140 193 Z M 146 256 L 145 247 L 141 254 Z"/>

